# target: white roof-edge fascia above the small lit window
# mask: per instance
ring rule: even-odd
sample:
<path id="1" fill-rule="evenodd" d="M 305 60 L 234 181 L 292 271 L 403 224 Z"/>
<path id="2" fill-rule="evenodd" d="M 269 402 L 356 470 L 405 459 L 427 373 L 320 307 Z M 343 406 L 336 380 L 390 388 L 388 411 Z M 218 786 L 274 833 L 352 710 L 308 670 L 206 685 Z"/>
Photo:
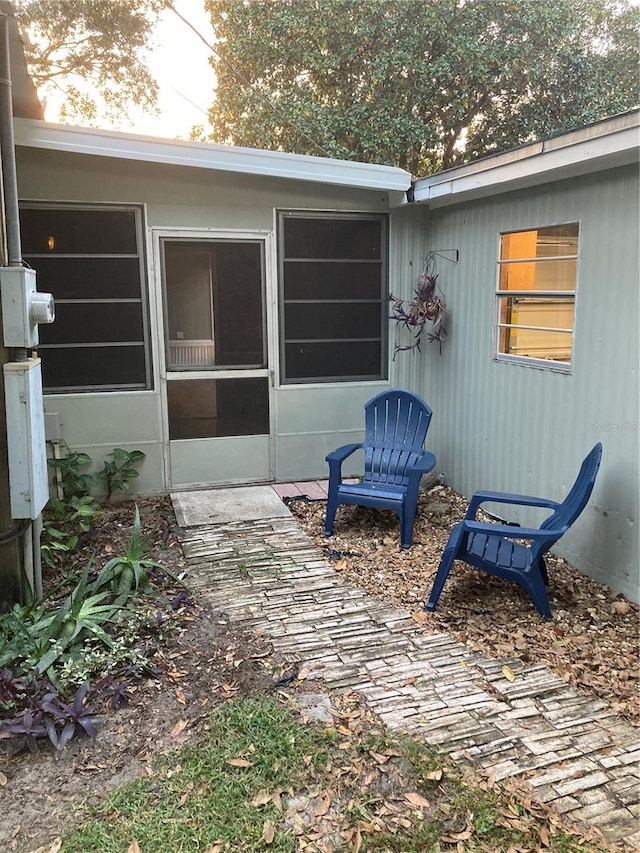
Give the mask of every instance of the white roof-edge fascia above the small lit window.
<path id="1" fill-rule="evenodd" d="M 533 143 L 421 178 L 414 184 L 414 200 L 438 207 L 637 162 L 639 142 L 636 124 L 569 145 L 561 138 Z"/>

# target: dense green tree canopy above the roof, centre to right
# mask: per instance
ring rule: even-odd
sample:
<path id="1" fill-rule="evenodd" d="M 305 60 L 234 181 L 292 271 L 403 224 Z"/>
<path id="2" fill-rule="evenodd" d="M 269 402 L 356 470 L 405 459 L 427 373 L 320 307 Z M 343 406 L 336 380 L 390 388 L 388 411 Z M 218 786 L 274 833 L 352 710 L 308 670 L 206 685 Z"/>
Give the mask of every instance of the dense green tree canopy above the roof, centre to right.
<path id="1" fill-rule="evenodd" d="M 211 141 L 413 173 L 638 100 L 629 0 L 206 0 Z"/>

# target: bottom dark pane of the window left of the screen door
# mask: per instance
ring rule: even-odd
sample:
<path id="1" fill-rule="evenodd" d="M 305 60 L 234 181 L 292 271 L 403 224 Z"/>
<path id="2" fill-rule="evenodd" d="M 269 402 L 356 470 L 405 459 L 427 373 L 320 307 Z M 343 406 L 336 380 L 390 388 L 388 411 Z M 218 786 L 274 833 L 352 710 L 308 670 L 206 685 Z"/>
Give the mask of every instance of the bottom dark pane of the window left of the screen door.
<path id="1" fill-rule="evenodd" d="M 99 386 L 146 387 L 144 346 L 42 347 L 46 390 L 88 390 Z"/>

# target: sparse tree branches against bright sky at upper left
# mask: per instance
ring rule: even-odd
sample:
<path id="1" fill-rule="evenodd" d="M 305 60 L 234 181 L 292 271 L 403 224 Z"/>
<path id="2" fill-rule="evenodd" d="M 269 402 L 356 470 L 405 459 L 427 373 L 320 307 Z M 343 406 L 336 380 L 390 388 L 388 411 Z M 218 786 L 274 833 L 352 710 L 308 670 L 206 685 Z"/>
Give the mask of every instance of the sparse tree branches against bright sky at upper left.
<path id="1" fill-rule="evenodd" d="M 63 120 L 113 121 L 153 108 L 157 84 L 141 63 L 163 0 L 18 0 L 29 72 L 40 93 L 64 96 Z"/>

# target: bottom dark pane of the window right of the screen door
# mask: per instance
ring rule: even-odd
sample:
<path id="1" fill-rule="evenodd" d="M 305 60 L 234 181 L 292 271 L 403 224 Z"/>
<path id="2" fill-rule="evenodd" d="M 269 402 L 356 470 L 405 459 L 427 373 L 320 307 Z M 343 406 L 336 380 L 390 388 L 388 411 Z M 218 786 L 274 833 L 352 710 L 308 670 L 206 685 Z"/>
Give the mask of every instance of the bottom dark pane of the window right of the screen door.
<path id="1" fill-rule="evenodd" d="M 380 341 L 288 343 L 289 379 L 379 379 Z"/>

